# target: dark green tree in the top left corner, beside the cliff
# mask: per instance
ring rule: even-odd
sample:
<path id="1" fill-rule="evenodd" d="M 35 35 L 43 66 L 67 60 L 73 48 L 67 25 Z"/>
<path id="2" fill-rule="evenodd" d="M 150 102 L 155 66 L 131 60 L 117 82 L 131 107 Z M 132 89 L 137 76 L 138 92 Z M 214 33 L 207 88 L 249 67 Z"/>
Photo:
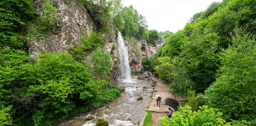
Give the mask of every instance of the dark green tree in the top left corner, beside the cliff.
<path id="1" fill-rule="evenodd" d="M 31 0 L 0 1 L 0 47 L 26 49 L 26 25 L 38 17 Z"/>

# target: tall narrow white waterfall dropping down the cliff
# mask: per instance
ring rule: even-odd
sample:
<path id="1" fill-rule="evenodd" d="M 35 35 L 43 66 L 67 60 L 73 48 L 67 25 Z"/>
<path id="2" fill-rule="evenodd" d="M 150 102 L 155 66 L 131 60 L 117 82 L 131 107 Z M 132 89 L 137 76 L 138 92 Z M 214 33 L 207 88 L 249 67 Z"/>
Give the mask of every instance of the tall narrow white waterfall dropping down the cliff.
<path id="1" fill-rule="evenodd" d="M 128 51 L 125 48 L 125 42 L 124 38 L 122 37 L 122 34 L 120 31 L 118 31 L 118 59 L 119 59 L 119 68 L 120 68 L 120 77 L 122 79 L 131 79 L 131 71 L 130 71 L 130 65 L 129 65 L 129 56 Z"/>

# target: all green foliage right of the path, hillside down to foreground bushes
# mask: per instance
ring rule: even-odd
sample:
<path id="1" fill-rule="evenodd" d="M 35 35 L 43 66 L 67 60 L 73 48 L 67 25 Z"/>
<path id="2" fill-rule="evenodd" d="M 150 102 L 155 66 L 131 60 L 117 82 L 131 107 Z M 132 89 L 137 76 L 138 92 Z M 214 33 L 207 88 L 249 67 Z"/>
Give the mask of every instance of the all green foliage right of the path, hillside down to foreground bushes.
<path id="1" fill-rule="evenodd" d="M 157 74 L 170 81 L 174 95 L 188 98 L 193 111 L 207 104 L 218 108 L 230 125 L 255 125 L 255 6 L 254 0 L 212 3 L 184 29 L 166 38 L 157 52 Z M 197 100 L 190 87 L 202 93 Z M 162 125 L 179 118 L 162 120 Z M 202 121 L 207 123 L 207 119 Z"/>

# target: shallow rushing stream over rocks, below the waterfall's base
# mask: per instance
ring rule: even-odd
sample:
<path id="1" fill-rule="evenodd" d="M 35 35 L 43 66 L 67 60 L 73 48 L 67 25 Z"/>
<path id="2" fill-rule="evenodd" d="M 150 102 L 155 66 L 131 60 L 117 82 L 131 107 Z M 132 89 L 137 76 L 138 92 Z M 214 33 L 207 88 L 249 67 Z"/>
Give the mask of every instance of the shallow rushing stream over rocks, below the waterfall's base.
<path id="1" fill-rule="evenodd" d="M 134 77 L 136 78 L 136 77 Z M 152 86 L 147 81 L 132 79 L 133 83 L 120 82 L 119 86 L 125 86 L 122 95 L 109 104 L 96 109 L 90 113 L 84 113 L 67 120 L 58 125 L 63 126 L 94 126 L 96 118 L 104 118 L 109 122 L 109 126 L 132 126 L 137 125 L 143 118 L 145 109 L 150 100 Z M 142 96 L 142 100 L 137 100 Z M 95 116 L 94 120 L 85 122 L 88 116 Z"/>

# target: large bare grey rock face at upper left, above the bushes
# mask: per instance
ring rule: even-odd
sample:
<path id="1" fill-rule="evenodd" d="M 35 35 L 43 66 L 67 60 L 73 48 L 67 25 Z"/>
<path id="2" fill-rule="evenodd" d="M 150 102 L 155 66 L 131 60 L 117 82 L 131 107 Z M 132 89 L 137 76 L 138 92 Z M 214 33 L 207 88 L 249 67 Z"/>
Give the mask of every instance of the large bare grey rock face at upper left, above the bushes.
<path id="1" fill-rule="evenodd" d="M 65 51 L 81 42 L 81 31 L 88 35 L 92 33 L 94 24 L 87 13 L 86 8 L 74 1 L 51 0 L 58 12 L 60 21 L 56 24 L 59 28 L 56 33 L 48 35 L 47 38 L 29 39 L 29 56 L 37 56 L 45 51 Z M 36 0 L 35 5 L 38 13 L 42 15 L 43 0 Z"/>

